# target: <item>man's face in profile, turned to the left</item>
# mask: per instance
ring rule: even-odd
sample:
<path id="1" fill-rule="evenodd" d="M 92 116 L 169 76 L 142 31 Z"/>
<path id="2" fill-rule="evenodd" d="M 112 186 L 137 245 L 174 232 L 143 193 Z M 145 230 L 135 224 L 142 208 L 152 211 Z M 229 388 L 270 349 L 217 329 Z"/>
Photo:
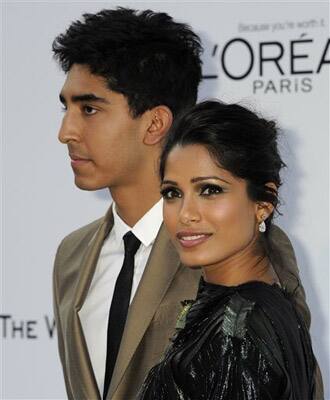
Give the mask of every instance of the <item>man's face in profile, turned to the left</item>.
<path id="1" fill-rule="evenodd" d="M 79 64 L 60 100 L 65 114 L 58 136 L 68 146 L 76 185 L 97 190 L 133 183 L 143 165 L 143 116 L 133 118 L 126 98 Z"/>

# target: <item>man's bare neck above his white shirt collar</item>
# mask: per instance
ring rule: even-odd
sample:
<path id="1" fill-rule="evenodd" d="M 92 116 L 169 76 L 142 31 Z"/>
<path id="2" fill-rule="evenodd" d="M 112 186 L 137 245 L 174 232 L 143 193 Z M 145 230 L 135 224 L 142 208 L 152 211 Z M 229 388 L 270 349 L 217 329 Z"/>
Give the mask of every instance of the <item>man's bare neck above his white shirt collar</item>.
<path id="1" fill-rule="evenodd" d="M 133 227 L 159 200 L 158 185 L 111 188 L 116 211 L 120 218 Z"/>

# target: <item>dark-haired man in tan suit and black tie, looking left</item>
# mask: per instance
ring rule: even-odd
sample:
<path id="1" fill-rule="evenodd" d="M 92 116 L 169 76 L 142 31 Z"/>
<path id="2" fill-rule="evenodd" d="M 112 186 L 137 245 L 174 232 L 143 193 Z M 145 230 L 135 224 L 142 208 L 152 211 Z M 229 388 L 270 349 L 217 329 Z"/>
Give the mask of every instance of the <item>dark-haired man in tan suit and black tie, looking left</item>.
<path id="1" fill-rule="evenodd" d="M 158 159 L 176 115 L 197 100 L 201 45 L 164 13 L 118 8 L 84 15 L 53 51 L 67 73 L 59 139 L 75 183 L 107 187 L 113 199 L 104 218 L 62 241 L 55 260 L 66 389 L 70 399 L 130 400 L 199 281 L 198 271 L 179 263 L 162 226 Z M 128 237 L 136 241 L 130 255 Z M 309 324 L 291 244 L 279 229 L 271 238 L 280 280 Z"/>

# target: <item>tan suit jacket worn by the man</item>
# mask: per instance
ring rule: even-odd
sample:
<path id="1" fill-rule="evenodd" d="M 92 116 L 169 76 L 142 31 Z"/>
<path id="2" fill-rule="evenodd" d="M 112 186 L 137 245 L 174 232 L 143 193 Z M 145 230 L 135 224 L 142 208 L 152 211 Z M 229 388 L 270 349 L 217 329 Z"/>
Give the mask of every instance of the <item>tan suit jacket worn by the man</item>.
<path id="1" fill-rule="evenodd" d="M 87 296 L 103 241 L 112 226 L 110 208 L 104 218 L 68 235 L 60 244 L 55 259 L 54 312 L 70 400 L 101 399 L 78 312 Z M 310 314 L 290 241 L 276 227 L 270 236 L 281 250 L 273 260 L 275 269 L 283 286 L 289 292 L 295 291 L 297 307 L 309 326 Z M 180 264 L 162 226 L 129 309 L 107 399 L 135 399 L 147 372 L 160 360 L 169 344 L 181 309 L 180 302 L 195 298 L 199 279 L 199 270 Z"/>

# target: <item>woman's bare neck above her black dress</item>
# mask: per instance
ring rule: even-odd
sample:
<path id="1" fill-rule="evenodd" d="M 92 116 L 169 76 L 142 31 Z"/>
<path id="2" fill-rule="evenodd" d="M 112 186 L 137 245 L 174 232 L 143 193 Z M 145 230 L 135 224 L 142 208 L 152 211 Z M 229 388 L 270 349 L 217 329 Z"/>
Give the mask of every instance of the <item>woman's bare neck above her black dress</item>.
<path id="1" fill-rule="evenodd" d="M 250 281 L 277 283 L 278 277 L 263 247 L 255 236 L 242 250 L 217 264 L 203 267 L 204 280 L 224 286 Z"/>

